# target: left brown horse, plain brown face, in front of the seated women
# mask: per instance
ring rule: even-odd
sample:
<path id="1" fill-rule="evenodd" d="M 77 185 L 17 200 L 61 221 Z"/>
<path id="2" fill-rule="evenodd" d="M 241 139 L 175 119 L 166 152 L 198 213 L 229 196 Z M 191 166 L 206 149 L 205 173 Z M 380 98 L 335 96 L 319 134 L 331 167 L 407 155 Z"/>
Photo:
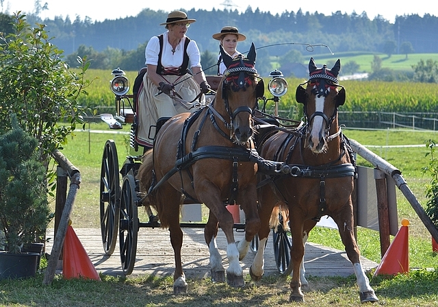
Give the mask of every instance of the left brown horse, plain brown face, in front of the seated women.
<path id="1" fill-rule="evenodd" d="M 253 143 L 253 112 L 263 96 L 263 79 L 257 75 L 255 47 L 248 56 L 231 58 L 221 48 L 227 71 L 215 99 L 194 114 L 179 114 L 157 133 L 154 147 L 144 156 L 138 172 L 140 191 L 149 191 L 146 202 L 155 206 L 159 221 L 170 230 L 175 251 L 174 293 L 185 293 L 181 265 L 183 232 L 179 224 L 183 199 L 209 208 L 205 242 L 210 251 L 211 278 L 224 282 L 222 258 L 216 247 L 218 225 L 227 237 L 227 282 L 243 286 L 242 259 L 259 230 L 257 212 L 257 153 Z M 239 204 L 246 215 L 245 240 L 235 243 L 233 217 L 225 208 Z"/>

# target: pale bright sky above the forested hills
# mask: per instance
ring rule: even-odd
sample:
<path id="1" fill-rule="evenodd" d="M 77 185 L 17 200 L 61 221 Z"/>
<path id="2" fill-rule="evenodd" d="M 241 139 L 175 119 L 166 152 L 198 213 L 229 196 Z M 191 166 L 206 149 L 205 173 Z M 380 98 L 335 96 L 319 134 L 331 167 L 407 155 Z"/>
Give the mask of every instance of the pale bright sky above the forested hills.
<path id="1" fill-rule="evenodd" d="M 25 12 L 27 14 L 35 12 L 34 7 L 36 1 L 41 5 L 47 3 L 47 10 L 43 10 L 40 14 L 42 19 L 53 19 L 55 16 L 61 16 L 63 19 L 66 16 L 70 20 L 75 20 L 77 16 L 84 20 L 86 16 L 90 17 L 91 21 L 104 21 L 105 19 L 123 19 L 127 16 L 136 16 L 138 12 L 145 8 L 151 10 L 163 10 L 170 12 L 172 10 L 238 10 L 244 12 L 248 6 L 252 10 L 259 8 L 262 12 L 271 12 L 271 14 L 285 12 L 309 12 L 311 14 L 318 11 L 324 15 L 331 15 L 333 12 L 340 11 L 342 14 L 362 14 L 366 12 L 369 19 L 374 19 L 376 16 L 381 16 L 383 19 L 394 23 L 396 16 L 418 14 L 421 17 L 424 14 L 438 16 L 438 1 L 436 0 L 418 0 L 418 1 L 388 1 L 388 0 L 313 0 L 313 1 L 296 1 L 283 0 L 274 1 L 274 5 L 269 0 L 0 0 L 2 12 Z M 436 2 L 435 2 L 436 1 Z M 282 5 L 276 5 L 283 2 Z M 163 5 L 166 3 L 166 5 Z M 394 4 L 396 3 L 396 4 Z M 189 16 L 190 18 L 190 16 Z"/>

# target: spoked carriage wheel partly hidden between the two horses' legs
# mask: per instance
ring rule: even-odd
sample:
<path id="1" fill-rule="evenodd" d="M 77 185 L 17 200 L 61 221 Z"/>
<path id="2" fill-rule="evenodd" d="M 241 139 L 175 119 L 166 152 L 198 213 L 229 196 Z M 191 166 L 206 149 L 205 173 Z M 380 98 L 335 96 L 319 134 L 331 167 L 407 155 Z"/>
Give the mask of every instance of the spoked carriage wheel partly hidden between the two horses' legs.
<path id="1" fill-rule="evenodd" d="M 290 249 L 292 248 L 292 238 L 288 235 L 287 230 L 283 228 L 283 217 L 280 215 L 280 225 L 275 232 L 272 230 L 272 241 L 274 243 L 274 258 L 277 269 L 284 275 L 291 272 L 287 270 L 290 263 Z"/>

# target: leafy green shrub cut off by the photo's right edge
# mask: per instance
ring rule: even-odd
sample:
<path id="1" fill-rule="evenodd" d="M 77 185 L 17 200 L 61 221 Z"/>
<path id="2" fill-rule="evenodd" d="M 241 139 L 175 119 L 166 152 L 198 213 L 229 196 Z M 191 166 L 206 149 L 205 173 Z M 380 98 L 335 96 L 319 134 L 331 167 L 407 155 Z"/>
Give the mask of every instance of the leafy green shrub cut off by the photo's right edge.
<path id="1" fill-rule="evenodd" d="M 429 163 L 427 167 L 422 169 L 423 173 L 430 175 L 430 182 L 426 185 L 426 214 L 430 221 L 438 229 L 438 159 L 435 156 L 435 149 L 437 147 L 435 140 L 427 140 L 426 147 L 429 151 L 426 156 L 429 156 Z M 432 238 L 433 251 L 438 252 L 438 244 Z"/>

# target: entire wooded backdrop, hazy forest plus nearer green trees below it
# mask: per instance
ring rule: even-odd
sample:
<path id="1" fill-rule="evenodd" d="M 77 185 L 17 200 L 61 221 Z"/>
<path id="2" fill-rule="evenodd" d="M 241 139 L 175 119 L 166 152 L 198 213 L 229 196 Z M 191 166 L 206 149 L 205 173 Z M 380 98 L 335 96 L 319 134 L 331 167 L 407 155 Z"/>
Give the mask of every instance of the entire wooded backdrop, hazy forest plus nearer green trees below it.
<path id="1" fill-rule="evenodd" d="M 44 8 L 40 8 L 44 10 Z M 315 8 L 315 11 L 317 8 Z M 40 12 L 36 10 L 36 12 Z M 216 64 L 218 41 L 211 35 L 224 25 L 235 25 L 247 40 L 240 42 L 238 49 L 247 51 L 251 42 L 257 47 L 257 69 L 269 73 L 270 63 L 302 63 L 309 49 L 313 55 L 345 51 L 376 53 L 437 53 L 438 17 L 425 14 L 397 16 L 395 23 L 377 16 L 369 19 L 361 14 L 342 14 L 338 11 L 329 16 L 318 12 L 283 12 L 271 14 L 258 8 L 248 7 L 245 12 L 237 10 L 189 10 L 188 16 L 196 23 L 188 29 L 188 36 L 196 40 L 201 53 L 203 67 Z M 51 42 L 64 50 L 70 66 L 77 66 L 77 56 L 88 56 L 91 68 L 138 70 L 144 66 L 144 48 L 152 36 L 165 32 L 159 26 L 166 20 L 167 12 L 144 9 L 136 16 L 124 19 L 92 21 L 69 16 L 66 19 L 41 20 L 38 13 L 28 14 L 32 25 L 44 23 L 52 37 Z M 0 31 L 11 31 L 8 15 L 0 14 Z M 354 65 L 353 65 L 354 66 Z M 214 74 L 214 68 L 207 71 Z"/>

